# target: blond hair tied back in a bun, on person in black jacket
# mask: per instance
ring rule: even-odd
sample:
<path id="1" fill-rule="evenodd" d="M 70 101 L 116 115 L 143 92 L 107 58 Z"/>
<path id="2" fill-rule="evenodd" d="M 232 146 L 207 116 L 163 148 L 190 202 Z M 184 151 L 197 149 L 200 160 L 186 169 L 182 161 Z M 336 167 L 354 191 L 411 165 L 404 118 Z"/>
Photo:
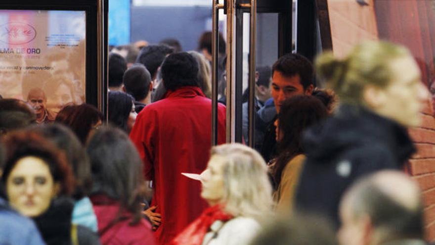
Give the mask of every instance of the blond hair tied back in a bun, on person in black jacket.
<path id="1" fill-rule="evenodd" d="M 348 56 L 339 59 L 331 51 L 319 55 L 316 72 L 326 86 L 337 94 L 340 102 L 364 104 L 366 85 L 385 88 L 392 79 L 390 62 L 410 55 L 408 49 L 385 41 L 366 41 L 355 46 Z"/>

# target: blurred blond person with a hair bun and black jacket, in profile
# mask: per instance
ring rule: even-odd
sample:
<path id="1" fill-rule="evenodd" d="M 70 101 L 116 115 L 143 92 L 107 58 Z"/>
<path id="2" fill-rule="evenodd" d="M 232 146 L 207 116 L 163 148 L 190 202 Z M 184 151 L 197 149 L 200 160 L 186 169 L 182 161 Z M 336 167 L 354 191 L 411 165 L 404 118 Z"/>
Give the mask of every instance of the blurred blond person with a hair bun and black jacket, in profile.
<path id="1" fill-rule="evenodd" d="M 388 42 L 362 43 L 343 59 L 324 53 L 316 70 L 340 105 L 305 134 L 307 159 L 296 204 L 323 212 L 338 225 L 340 198 L 354 180 L 402 169 L 415 151 L 406 127 L 420 125 L 429 94 L 408 49 Z"/>

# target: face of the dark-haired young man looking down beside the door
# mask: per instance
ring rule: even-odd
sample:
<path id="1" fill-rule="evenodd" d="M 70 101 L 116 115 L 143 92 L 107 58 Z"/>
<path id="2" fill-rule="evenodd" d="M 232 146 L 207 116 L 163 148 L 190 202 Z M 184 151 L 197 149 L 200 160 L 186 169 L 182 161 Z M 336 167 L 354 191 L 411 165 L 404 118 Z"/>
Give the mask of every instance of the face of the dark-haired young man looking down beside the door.
<path id="1" fill-rule="evenodd" d="M 304 90 L 301 77 L 297 74 L 292 77 L 284 76 L 280 71 L 274 71 L 272 75 L 272 97 L 276 112 L 279 113 L 281 104 L 287 98 L 295 95 L 311 95 L 313 85 Z"/>

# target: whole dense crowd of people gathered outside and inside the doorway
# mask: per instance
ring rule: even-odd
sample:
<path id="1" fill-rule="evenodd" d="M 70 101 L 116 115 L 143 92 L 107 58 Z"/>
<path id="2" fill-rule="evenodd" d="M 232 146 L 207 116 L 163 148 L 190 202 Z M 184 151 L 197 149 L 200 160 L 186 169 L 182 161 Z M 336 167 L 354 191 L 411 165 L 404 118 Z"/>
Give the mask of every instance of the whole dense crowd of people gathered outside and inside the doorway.
<path id="1" fill-rule="evenodd" d="M 1 98 L 0 244 L 427 244 L 402 170 L 429 94 L 406 48 L 258 67 L 255 147 L 225 144 L 222 86 L 211 147 L 210 36 L 112 49 L 107 123 L 86 103 L 48 110 L 40 89 Z"/>

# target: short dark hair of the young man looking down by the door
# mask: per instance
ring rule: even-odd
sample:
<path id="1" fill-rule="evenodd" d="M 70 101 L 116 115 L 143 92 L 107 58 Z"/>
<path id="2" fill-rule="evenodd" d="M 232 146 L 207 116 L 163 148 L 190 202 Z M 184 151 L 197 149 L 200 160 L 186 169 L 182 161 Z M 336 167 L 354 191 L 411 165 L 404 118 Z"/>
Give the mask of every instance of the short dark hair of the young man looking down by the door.
<path id="1" fill-rule="evenodd" d="M 299 75 L 304 89 L 314 84 L 314 69 L 312 63 L 298 53 L 288 53 L 281 56 L 272 66 L 272 76 L 279 71 L 285 77 Z"/>

